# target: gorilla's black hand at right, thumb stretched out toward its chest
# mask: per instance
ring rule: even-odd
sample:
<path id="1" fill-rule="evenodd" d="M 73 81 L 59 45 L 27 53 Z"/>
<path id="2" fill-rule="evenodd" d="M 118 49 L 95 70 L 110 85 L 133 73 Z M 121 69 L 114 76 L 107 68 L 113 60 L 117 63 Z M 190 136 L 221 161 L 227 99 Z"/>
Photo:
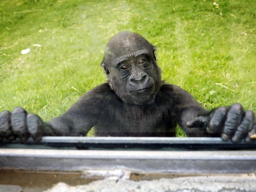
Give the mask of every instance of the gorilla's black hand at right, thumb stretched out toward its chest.
<path id="1" fill-rule="evenodd" d="M 244 111 L 239 103 L 230 108 L 219 107 L 209 116 L 200 116 L 187 122 L 187 127 L 198 127 L 206 133 L 221 134 L 223 140 L 233 142 L 252 142 L 256 139 L 255 115 L 252 111 Z"/>

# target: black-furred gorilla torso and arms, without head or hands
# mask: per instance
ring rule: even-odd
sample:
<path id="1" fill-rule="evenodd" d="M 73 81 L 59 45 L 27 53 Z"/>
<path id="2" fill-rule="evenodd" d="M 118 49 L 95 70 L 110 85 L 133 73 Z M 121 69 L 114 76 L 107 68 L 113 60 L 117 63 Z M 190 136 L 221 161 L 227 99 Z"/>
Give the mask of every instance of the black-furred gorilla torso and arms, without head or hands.
<path id="1" fill-rule="evenodd" d="M 152 103 L 137 105 L 123 102 L 104 83 L 49 123 L 59 136 L 85 135 L 94 126 L 95 136 L 170 137 L 175 136 L 177 123 L 187 135 L 203 136 L 199 129 L 187 129 L 186 122 L 204 113 L 189 93 L 175 85 L 161 85 Z"/>

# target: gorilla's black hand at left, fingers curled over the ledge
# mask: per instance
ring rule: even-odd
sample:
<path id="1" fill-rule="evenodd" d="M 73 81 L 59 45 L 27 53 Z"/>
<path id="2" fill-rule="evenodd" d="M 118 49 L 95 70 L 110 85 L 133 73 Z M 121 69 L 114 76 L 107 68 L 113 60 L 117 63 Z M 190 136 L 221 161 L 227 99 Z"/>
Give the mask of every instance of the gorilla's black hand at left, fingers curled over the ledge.
<path id="1" fill-rule="evenodd" d="M 41 140 L 43 135 L 50 135 L 52 127 L 37 116 L 27 114 L 22 107 L 16 107 L 13 112 L 3 111 L 0 113 L 0 137 L 7 140 L 15 140 L 19 137 L 26 141 L 28 137 L 34 140 Z"/>

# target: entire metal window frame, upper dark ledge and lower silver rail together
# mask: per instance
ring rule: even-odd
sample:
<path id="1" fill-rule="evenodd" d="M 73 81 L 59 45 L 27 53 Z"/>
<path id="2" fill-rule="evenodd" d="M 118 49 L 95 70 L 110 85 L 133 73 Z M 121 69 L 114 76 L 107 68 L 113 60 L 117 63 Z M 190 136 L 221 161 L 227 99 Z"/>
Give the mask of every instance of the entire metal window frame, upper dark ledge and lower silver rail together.
<path id="1" fill-rule="evenodd" d="M 51 149 L 39 149 L 57 144 Z M 66 145 L 66 148 L 58 146 Z M 44 137 L 41 142 L 29 140 L 25 144 L 2 142 L 0 169 L 40 171 L 81 171 L 125 169 L 153 173 L 255 173 L 256 144 L 233 144 L 220 138 L 157 138 L 157 137 Z M 23 145 L 36 146 L 21 149 Z M 65 146 L 64 145 L 64 146 Z M 92 150 L 74 150 L 74 146 L 89 146 Z M 94 150 L 95 146 L 100 146 Z M 154 148 L 154 145 L 161 148 Z M 180 146 L 172 151 L 164 146 Z M 184 150 L 185 146 L 207 146 L 197 151 Z M 213 150 L 214 146 L 239 150 Z M 110 146 L 110 147 L 109 147 Z M 113 146 L 115 146 L 113 148 Z M 129 148 L 129 146 L 135 146 Z M 183 147 L 182 147 L 183 146 Z M 211 146 L 211 150 L 209 150 Z M 237 148 L 236 146 L 236 148 Z M 242 146 L 242 147 L 241 147 Z M 123 147 L 123 148 L 122 148 Z M 121 150 L 122 148 L 122 150 Z M 139 148 L 139 150 L 138 150 Z M 223 149 L 224 149 L 223 148 Z"/>

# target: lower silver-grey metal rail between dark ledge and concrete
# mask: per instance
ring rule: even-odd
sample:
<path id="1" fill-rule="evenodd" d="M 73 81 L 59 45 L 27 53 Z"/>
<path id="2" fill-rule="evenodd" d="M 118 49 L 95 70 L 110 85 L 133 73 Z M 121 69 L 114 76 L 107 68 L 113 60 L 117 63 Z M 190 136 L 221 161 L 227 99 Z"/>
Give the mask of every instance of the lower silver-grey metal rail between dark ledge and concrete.
<path id="1" fill-rule="evenodd" d="M 109 151 L 1 149 L 0 168 L 151 173 L 256 173 L 256 151 Z"/>

